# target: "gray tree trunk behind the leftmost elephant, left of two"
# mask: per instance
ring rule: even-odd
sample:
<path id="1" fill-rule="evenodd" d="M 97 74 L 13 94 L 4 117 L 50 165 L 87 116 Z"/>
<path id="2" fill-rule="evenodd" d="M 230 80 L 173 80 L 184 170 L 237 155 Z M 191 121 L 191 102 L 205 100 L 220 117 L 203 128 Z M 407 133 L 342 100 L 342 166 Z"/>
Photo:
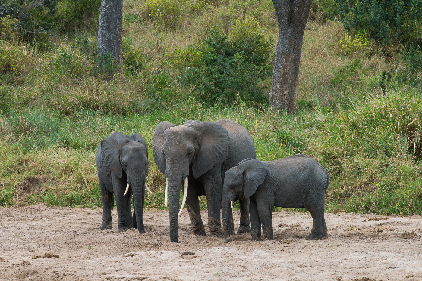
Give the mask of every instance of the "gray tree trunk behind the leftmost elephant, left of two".
<path id="1" fill-rule="evenodd" d="M 122 74 L 123 0 L 101 0 L 98 22 L 97 61 L 100 73 Z M 121 76 L 123 80 L 123 75 Z"/>

